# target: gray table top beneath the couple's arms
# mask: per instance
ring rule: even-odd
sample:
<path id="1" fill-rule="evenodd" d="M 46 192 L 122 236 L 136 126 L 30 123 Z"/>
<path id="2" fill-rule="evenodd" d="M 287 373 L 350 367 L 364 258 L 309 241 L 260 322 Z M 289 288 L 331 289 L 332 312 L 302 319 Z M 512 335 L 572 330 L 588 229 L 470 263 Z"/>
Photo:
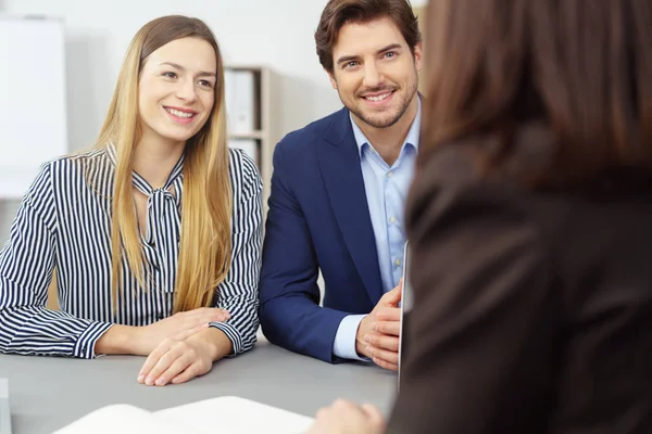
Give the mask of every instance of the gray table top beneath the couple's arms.
<path id="1" fill-rule="evenodd" d="M 51 433 L 110 404 L 154 411 L 218 396 L 240 396 L 309 417 L 342 397 L 374 404 L 387 414 L 397 388 L 393 372 L 355 362 L 329 365 L 264 340 L 186 384 L 138 384 L 143 362 L 134 356 L 79 360 L 0 355 L 0 378 L 9 379 L 12 434 Z"/>

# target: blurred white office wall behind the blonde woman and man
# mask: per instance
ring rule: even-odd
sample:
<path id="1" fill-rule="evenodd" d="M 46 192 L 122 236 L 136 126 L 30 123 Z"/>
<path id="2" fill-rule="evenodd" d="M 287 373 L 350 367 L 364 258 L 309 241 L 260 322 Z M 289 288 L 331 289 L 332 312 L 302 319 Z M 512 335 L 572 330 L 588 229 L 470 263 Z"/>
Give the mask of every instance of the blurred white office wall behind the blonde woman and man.
<path id="1" fill-rule="evenodd" d="M 91 145 L 99 132 L 131 37 L 148 21 L 174 13 L 204 20 L 221 43 L 226 64 L 265 65 L 278 73 L 276 93 L 281 98 L 272 105 L 283 133 L 339 108 L 313 39 L 326 2 L 0 0 L 0 13 L 64 20 L 68 150 L 76 151 Z M 425 2 L 413 0 L 412 4 Z M 17 204 L 0 199 L 1 244 Z"/>

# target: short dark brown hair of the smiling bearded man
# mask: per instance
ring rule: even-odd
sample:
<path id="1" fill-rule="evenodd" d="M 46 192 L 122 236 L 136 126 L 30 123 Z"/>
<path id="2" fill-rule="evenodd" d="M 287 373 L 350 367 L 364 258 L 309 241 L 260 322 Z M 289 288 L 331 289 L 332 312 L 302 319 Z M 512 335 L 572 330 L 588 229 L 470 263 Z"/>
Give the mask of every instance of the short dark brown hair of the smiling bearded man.
<path id="1" fill-rule="evenodd" d="M 319 63 L 333 74 L 333 47 L 337 43 L 340 28 L 349 23 L 369 23 L 390 18 L 401 31 L 412 54 L 422 40 L 418 22 L 409 0 L 330 0 L 315 31 Z"/>

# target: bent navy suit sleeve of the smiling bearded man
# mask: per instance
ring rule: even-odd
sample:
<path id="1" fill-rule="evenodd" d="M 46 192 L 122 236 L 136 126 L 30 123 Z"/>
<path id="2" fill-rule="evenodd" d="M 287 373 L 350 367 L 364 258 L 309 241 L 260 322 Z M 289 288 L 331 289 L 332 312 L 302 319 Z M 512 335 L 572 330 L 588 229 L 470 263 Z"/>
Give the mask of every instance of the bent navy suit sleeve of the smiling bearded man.
<path id="1" fill-rule="evenodd" d="M 319 306 L 318 264 L 311 233 L 288 182 L 283 142 L 274 151 L 274 174 L 263 244 L 260 319 L 269 342 L 336 362 L 335 336 L 348 312 Z"/>

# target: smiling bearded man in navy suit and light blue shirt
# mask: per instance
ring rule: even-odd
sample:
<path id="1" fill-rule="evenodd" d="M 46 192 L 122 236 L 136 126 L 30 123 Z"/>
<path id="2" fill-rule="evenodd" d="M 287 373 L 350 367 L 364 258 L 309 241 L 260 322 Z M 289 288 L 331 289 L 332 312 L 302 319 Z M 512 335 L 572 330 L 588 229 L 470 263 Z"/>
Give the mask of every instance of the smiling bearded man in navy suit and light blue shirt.
<path id="1" fill-rule="evenodd" d="M 261 323 L 290 350 L 397 370 L 403 210 L 421 115 L 417 21 L 406 0 L 330 0 L 315 41 L 344 107 L 274 152 Z"/>

